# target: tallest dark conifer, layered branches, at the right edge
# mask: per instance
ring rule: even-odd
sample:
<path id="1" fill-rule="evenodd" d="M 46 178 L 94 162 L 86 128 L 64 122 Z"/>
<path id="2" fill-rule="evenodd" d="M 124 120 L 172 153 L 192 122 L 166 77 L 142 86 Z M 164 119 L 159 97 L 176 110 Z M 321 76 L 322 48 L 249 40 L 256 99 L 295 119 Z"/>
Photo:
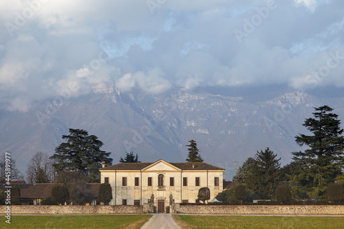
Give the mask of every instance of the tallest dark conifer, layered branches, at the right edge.
<path id="1" fill-rule="evenodd" d="M 344 137 L 341 121 L 331 107 L 314 107 L 314 118 L 303 124 L 312 135 L 299 134 L 296 142 L 306 145 L 304 152 L 294 152 L 293 160 L 299 164 L 292 171 L 292 193 L 297 197 L 325 197 L 327 184 L 341 174 L 343 166 Z"/>

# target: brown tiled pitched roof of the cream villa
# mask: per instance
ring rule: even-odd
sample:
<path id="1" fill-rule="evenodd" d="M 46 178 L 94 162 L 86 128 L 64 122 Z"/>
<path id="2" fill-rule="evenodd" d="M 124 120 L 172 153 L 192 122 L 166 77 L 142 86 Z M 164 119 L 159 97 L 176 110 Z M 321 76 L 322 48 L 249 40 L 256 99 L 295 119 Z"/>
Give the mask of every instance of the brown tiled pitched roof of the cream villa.
<path id="1" fill-rule="evenodd" d="M 120 163 L 114 164 L 111 166 L 107 166 L 104 168 L 99 168 L 100 171 L 107 171 L 107 170 L 141 170 L 154 164 L 155 162 L 139 162 L 139 163 Z M 169 163 L 169 162 L 167 162 Z M 220 168 L 217 166 L 213 166 L 211 164 L 207 164 L 204 162 L 180 162 L 180 163 L 169 163 L 175 167 L 178 167 L 182 170 L 224 170 L 224 168 Z"/>

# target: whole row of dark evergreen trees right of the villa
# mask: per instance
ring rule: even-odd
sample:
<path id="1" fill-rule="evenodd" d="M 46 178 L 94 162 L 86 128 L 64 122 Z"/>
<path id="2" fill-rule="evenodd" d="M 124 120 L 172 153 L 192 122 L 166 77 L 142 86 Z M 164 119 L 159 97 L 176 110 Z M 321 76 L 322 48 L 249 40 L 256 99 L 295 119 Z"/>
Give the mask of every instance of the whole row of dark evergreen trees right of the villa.
<path id="1" fill-rule="evenodd" d="M 295 136 L 304 151 L 292 152 L 292 162 L 281 167 L 269 148 L 257 151 L 233 177 L 236 186 L 218 195 L 222 201 L 238 199 L 328 199 L 344 201 L 344 137 L 338 115 L 327 105 L 314 107 L 313 118 L 305 119 L 303 126 L 310 135 Z M 238 187 L 237 187 L 238 186 Z M 239 188 L 241 190 L 239 191 Z M 235 190 L 246 195 L 235 198 Z"/>

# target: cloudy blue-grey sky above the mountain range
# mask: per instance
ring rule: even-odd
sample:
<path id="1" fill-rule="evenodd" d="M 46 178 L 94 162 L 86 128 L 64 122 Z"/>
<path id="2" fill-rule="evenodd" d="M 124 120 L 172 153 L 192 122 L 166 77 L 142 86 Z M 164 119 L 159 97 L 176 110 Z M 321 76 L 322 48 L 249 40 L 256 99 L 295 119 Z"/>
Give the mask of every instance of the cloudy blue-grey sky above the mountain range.
<path id="1" fill-rule="evenodd" d="M 344 87 L 344 1 L 0 1 L 0 109 L 107 87 Z"/>

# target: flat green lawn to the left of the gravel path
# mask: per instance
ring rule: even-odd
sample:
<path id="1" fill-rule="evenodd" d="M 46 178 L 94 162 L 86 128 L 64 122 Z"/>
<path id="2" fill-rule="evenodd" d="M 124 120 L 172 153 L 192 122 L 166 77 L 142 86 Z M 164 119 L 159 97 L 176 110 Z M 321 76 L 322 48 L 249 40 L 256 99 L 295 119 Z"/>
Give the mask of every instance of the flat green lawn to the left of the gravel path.
<path id="1" fill-rule="evenodd" d="M 140 228 L 151 215 L 12 215 L 0 228 Z"/>

